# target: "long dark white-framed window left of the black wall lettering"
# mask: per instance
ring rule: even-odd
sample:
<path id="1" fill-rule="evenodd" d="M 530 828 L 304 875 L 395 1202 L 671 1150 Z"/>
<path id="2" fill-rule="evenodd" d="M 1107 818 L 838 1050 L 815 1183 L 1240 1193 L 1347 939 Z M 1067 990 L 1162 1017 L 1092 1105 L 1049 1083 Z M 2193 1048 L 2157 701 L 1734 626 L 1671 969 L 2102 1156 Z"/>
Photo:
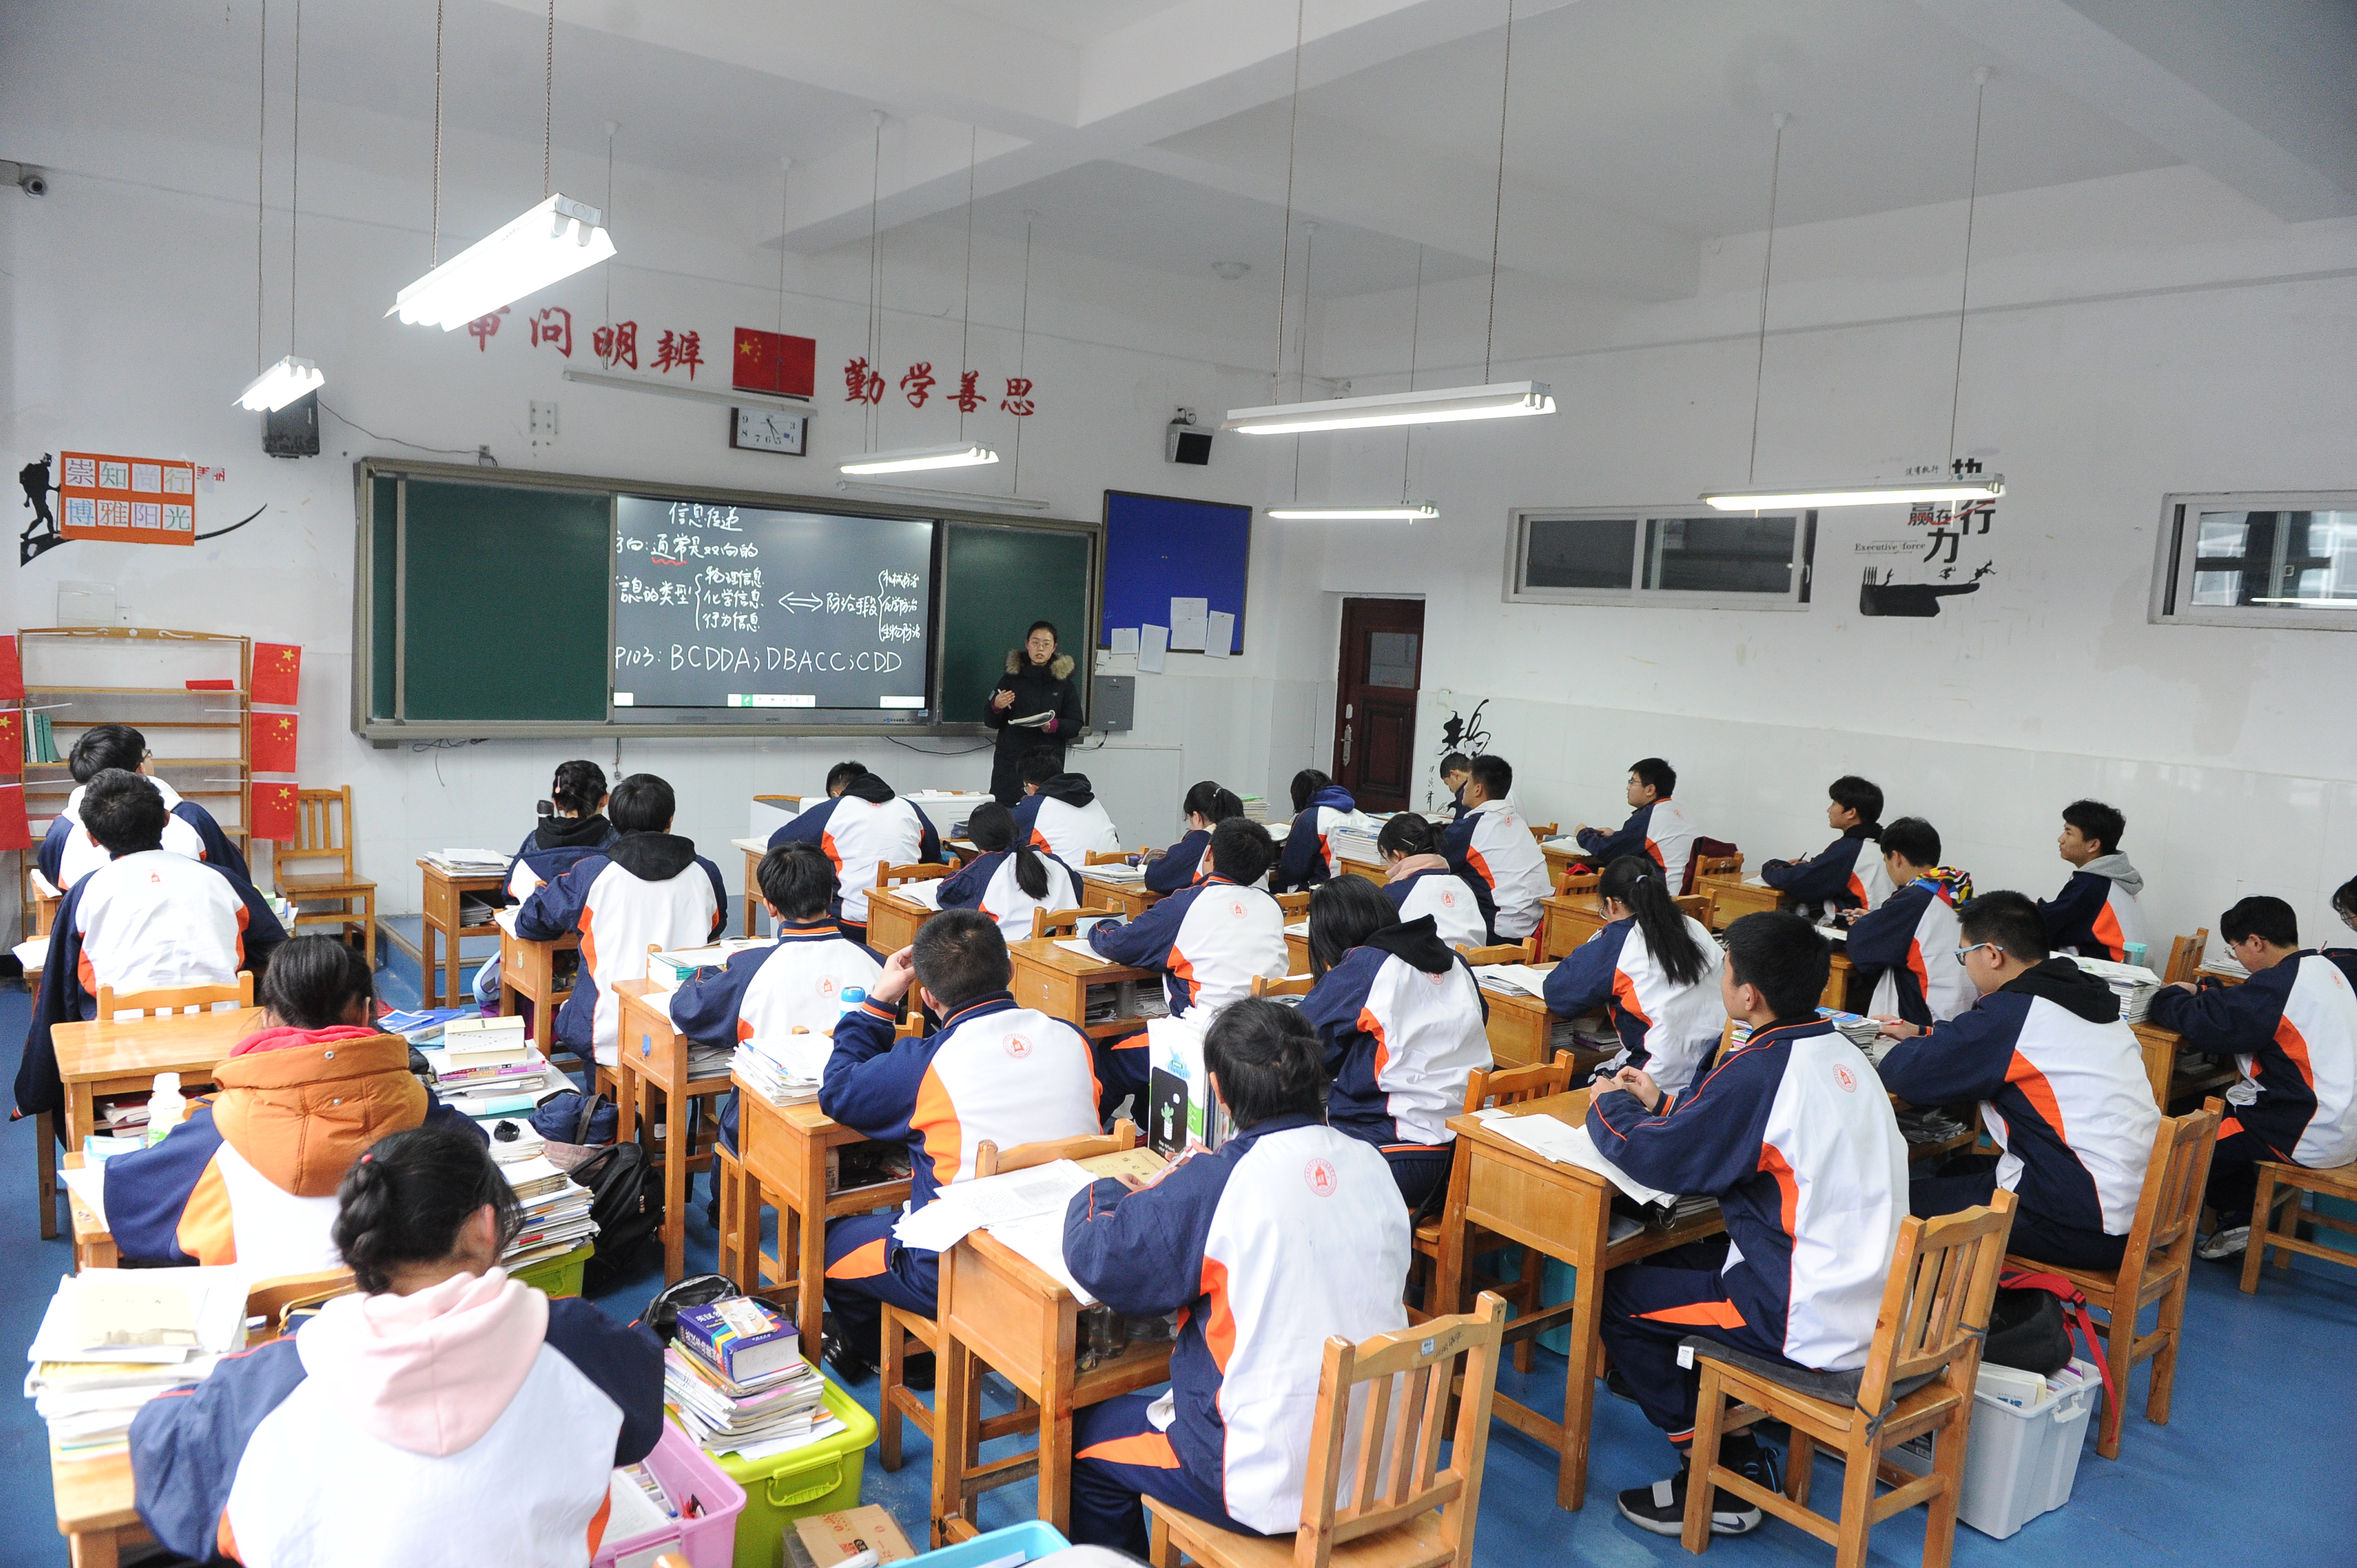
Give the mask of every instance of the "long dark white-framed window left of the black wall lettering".
<path id="1" fill-rule="evenodd" d="M 1511 604 L 1664 608 L 1808 606 L 1815 512 L 1523 507 L 1506 561 Z"/>

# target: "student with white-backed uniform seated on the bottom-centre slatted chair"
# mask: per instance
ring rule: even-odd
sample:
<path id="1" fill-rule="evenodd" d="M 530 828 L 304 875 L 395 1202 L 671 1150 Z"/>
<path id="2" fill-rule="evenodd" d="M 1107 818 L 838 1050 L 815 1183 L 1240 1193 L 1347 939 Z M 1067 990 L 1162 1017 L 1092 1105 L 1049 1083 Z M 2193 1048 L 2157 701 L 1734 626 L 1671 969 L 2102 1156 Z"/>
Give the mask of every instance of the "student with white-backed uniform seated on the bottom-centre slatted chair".
<path id="1" fill-rule="evenodd" d="M 1089 1405 L 1072 1429 L 1072 1540 L 1141 1561 L 1143 1497 L 1292 1535 L 1315 1485 L 1325 1342 L 1407 1327 L 1407 1207 L 1372 1146 L 1322 1125 L 1308 1021 L 1237 1002 L 1211 1026 L 1204 1066 L 1235 1137 L 1141 1191 L 1096 1181 L 1063 1219 L 1065 1266 L 1105 1306 L 1178 1313 L 1171 1386 Z"/>

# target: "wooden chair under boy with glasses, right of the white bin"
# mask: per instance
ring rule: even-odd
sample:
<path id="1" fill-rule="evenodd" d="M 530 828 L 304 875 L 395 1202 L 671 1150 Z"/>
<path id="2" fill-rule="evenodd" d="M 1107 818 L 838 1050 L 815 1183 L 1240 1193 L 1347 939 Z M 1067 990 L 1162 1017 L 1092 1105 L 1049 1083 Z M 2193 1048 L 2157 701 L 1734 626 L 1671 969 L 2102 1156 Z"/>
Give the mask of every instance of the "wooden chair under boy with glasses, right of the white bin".
<path id="1" fill-rule="evenodd" d="M 2032 1257 L 2006 1259 L 2013 1269 L 2060 1273 L 2110 1318 L 2105 1361 L 2112 1370 L 2112 1389 L 2105 1389 L 2102 1427 L 2095 1436 L 2095 1452 L 2105 1460 L 2119 1457 L 2119 1422 L 2128 1405 L 2128 1375 L 2135 1372 L 2138 1361 L 2152 1363 L 2145 1419 L 2154 1427 L 2168 1424 L 2168 1396 L 2178 1384 L 2178 1342 L 2185 1337 L 2185 1285 L 2192 1280 L 2201 1188 L 2209 1186 L 2211 1151 L 2218 1148 L 2223 1118 L 2225 1101 L 2220 1099 L 2204 1101 L 2192 1115 L 2161 1118 L 2119 1269 L 2062 1269 Z M 2161 1318 L 2150 1335 L 2138 1335 L 2135 1318 L 2154 1302 L 2161 1304 Z M 2114 1389 L 2119 1398 L 2112 1398 Z"/>

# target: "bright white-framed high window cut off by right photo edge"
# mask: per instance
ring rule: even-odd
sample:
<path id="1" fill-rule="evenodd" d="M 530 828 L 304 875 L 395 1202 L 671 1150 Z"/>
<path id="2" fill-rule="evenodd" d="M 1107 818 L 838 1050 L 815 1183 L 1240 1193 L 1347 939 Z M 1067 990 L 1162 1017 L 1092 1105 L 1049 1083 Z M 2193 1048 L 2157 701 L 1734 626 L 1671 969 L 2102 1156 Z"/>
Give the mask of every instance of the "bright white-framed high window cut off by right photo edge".
<path id="1" fill-rule="evenodd" d="M 2166 495 L 2152 620 L 2357 632 L 2357 490 Z"/>

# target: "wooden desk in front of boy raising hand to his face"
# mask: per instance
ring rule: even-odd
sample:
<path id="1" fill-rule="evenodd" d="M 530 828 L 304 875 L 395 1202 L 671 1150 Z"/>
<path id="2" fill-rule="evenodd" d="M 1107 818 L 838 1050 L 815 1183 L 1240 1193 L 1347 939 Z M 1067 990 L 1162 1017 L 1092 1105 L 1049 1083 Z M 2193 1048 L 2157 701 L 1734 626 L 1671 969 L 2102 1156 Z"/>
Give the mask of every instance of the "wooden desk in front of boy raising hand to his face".
<path id="1" fill-rule="evenodd" d="M 738 1085 L 742 1087 L 742 1085 Z M 738 1287 L 761 1285 L 761 1203 L 778 1210 L 778 1259 L 771 1283 L 794 1290 L 794 1323 L 801 1353 L 818 1363 L 818 1327 L 827 1287 L 827 1221 L 870 1214 L 907 1203 L 907 1181 L 884 1181 L 846 1193 L 827 1191 L 827 1153 L 867 1139 L 830 1120 L 816 1101 L 773 1106 L 759 1092 L 738 1096 L 738 1162 L 754 1191 L 735 1214 L 745 1226 L 738 1245 Z"/>

